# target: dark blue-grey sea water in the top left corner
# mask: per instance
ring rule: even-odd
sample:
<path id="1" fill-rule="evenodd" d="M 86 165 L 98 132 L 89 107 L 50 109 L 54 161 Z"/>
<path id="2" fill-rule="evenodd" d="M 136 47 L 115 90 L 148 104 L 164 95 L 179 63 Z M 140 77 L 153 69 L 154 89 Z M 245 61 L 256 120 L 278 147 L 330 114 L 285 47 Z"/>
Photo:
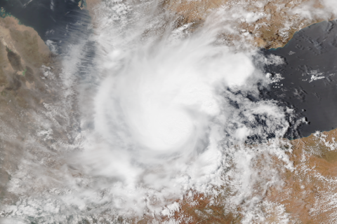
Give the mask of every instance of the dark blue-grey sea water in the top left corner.
<path id="1" fill-rule="evenodd" d="M 88 10 L 81 10 L 79 1 L 0 1 L 0 8 L 20 24 L 34 28 L 50 48 L 51 43 L 54 45 L 58 54 L 65 52 L 62 48 L 66 45 L 77 43 L 78 38 L 86 38 L 91 32 Z"/>

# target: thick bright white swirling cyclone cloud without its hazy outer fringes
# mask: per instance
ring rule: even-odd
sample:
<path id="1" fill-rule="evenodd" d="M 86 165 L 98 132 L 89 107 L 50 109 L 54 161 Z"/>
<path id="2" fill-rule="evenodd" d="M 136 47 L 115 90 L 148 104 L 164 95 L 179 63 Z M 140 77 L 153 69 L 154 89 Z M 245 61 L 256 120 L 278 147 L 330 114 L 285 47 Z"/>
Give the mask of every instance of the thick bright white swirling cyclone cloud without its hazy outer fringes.
<path id="1" fill-rule="evenodd" d="M 257 52 L 217 45 L 216 25 L 188 38 L 176 29 L 144 36 L 162 15 L 138 18 L 140 9 L 102 9 L 115 18 L 100 18 L 104 29 L 93 37 L 101 79 L 80 163 L 105 177 L 95 190 L 106 190 L 114 208 L 141 214 L 191 188 L 220 185 L 229 148 L 282 137 L 288 122 L 285 109 L 258 98 L 269 80 L 253 64 Z"/>

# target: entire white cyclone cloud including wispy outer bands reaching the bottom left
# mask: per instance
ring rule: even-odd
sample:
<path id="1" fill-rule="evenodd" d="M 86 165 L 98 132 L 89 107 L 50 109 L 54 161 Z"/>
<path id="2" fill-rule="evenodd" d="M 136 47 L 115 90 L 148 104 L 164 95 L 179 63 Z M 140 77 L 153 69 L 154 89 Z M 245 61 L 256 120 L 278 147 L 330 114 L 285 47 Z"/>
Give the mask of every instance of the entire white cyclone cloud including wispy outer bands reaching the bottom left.
<path id="1" fill-rule="evenodd" d="M 273 155 L 291 169 L 288 142 L 280 139 L 293 111 L 260 98 L 261 87 L 277 82 L 260 68 L 284 60 L 239 40 L 222 44 L 221 31 L 230 30 L 222 21 L 190 34 L 192 24 L 177 28 L 156 8 L 102 3 L 95 32 L 67 46 L 64 98 L 46 108 L 53 117 L 76 102 L 80 131 L 73 144 L 25 155 L 8 187 L 20 200 L 3 208 L 5 222 L 171 216 L 184 195 L 216 197 L 220 186 L 231 189 L 229 204 L 246 205 L 244 223 L 263 220 L 253 185 L 280 181 L 267 165 L 259 176 L 252 161 Z M 44 122 L 41 141 L 54 138 L 52 122 Z"/>

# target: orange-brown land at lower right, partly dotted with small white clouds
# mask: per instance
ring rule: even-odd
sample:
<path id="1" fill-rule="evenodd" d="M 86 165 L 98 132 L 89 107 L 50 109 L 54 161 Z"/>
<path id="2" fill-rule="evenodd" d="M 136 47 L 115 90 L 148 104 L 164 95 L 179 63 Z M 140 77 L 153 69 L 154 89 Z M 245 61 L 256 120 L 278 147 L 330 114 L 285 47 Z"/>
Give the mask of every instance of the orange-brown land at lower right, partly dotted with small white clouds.
<path id="1" fill-rule="evenodd" d="M 270 166 L 282 177 L 282 184 L 266 187 L 266 177 L 260 174 L 263 181 L 254 186 L 256 195 L 264 195 L 263 203 L 258 205 L 258 209 L 267 214 L 262 223 L 336 222 L 336 136 L 337 130 L 332 130 L 290 141 L 289 157 L 293 169 L 282 168 L 284 164 L 279 158 L 268 155 L 260 155 L 254 160 L 256 169 L 263 171 L 264 167 Z M 272 177 L 267 179 L 270 181 Z M 231 189 L 218 190 L 221 193 L 216 201 L 200 194 L 179 201 L 174 219 L 181 223 L 242 223 L 244 202 L 231 208 L 228 200 Z"/>

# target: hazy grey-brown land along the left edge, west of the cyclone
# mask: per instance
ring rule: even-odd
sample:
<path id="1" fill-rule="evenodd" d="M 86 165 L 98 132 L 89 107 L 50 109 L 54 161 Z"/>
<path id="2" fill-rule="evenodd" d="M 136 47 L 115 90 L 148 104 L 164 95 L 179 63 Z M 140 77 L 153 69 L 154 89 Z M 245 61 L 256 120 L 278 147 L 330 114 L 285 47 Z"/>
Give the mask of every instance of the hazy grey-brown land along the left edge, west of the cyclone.
<path id="1" fill-rule="evenodd" d="M 48 139 L 48 132 L 60 142 L 70 141 L 65 135 L 67 120 L 55 120 L 55 106 L 51 106 L 60 103 L 59 68 L 57 56 L 37 31 L 19 25 L 11 16 L 0 18 L 0 204 L 18 200 L 6 191 L 6 184 L 22 159 L 48 158 L 40 149 L 53 151 L 59 144 Z M 44 162 L 53 165 L 55 161 Z"/>

